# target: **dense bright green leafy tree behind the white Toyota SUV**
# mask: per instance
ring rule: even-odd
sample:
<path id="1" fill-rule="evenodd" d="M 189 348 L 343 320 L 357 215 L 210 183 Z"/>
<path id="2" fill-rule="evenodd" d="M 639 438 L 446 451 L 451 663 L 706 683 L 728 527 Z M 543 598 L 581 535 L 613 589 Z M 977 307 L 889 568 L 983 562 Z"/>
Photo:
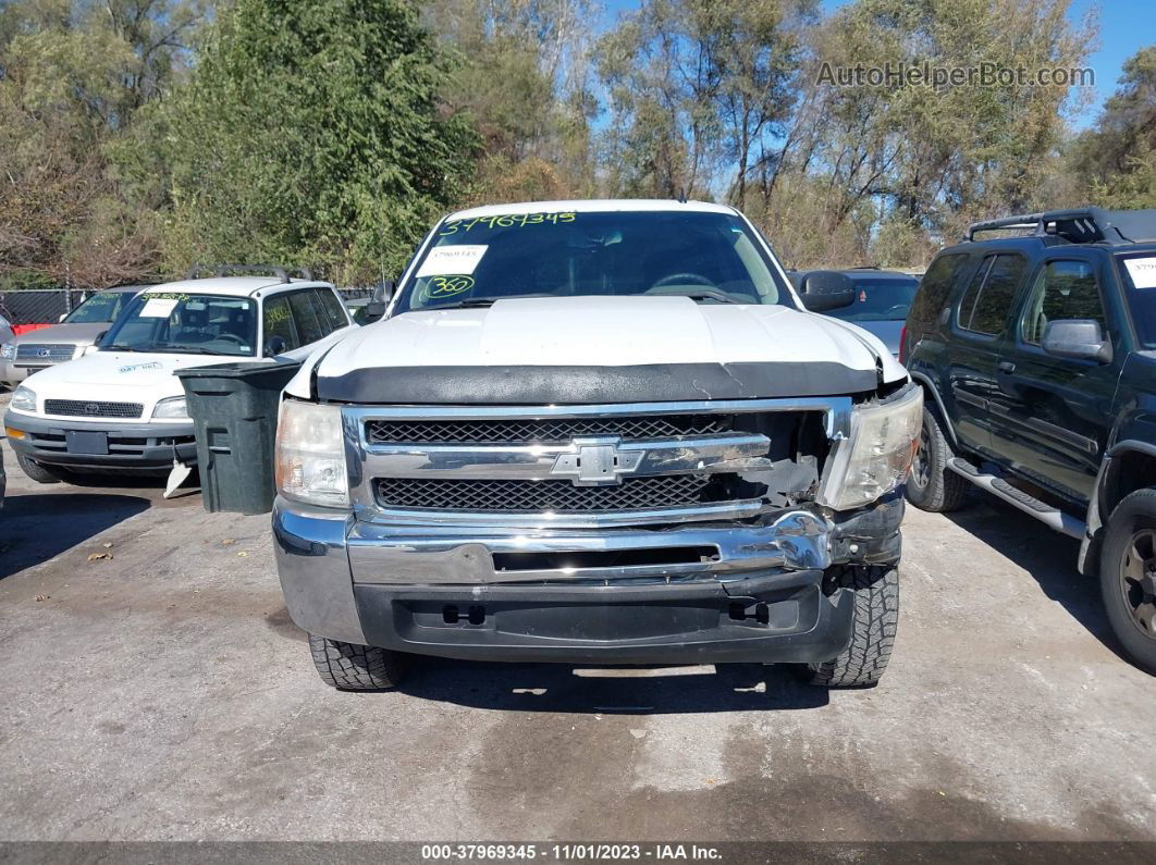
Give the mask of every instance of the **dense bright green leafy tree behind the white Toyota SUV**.
<path id="1" fill-rule="evenodd" d="M 166 267 L 398 271 L 472 170 L 472 127 L 437 100 L 446 75 L 403 0 L 239 0 L 138 148 L 171 172 Z"/>

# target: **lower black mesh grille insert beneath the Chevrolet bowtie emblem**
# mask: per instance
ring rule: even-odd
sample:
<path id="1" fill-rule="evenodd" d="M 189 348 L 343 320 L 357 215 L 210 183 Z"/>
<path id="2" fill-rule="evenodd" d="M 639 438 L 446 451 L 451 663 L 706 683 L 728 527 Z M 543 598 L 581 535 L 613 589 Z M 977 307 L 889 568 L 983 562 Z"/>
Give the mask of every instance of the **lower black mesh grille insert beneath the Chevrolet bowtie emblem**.
<path id="1" fill-rule="evenodd" d="M 625 478 L 620 486 L 575 486 L 569 480 L 375 482 L 378 505 L 384 508 L 563 514 L 689 507 L 709 500 L 710 485 L 711 477 L 704 475 Z"/>

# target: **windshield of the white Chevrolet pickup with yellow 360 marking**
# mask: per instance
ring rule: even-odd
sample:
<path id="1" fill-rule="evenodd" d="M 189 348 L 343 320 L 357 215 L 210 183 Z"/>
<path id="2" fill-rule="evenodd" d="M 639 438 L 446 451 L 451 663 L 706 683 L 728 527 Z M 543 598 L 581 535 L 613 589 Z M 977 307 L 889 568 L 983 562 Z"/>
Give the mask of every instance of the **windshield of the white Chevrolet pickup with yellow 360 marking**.
<path id="1" fill-rule="evenodd" d="M 395 314 L 525 296 L 793 306 L 758 238 L 728 214 L 527 212 L 447 219 L 436 232 Z"/>

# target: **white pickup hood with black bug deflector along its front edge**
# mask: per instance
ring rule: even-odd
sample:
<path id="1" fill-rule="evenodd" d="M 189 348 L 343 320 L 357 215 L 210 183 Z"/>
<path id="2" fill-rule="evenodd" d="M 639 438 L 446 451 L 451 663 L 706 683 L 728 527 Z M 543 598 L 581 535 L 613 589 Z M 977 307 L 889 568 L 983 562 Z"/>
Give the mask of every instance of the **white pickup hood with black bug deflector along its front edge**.
<path id="1" fill-rule="evenodd" d="M 309 395 L 312 366 L 290 394 Z M 335 401 L 576 403 L 846 394 L 873 389 L 880 368 L 906 378 L 876 337 L 813 313 L 598 296 L 403 313 L 338 343 L 316 375 Z"/>

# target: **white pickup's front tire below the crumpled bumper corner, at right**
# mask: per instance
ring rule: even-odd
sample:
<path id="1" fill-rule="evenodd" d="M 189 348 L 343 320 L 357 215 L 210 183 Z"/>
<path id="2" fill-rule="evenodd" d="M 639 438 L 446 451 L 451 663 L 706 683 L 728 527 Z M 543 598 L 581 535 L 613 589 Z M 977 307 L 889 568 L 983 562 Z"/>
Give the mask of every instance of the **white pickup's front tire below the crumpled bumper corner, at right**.
<path id="1" fill-rule="evenodd" d="M 851 644 L 832 661 L 810 664 L 812 685 L 829 688 L 875 685 L 891 659 L 899 624 L 899 571 L 891 567 L 854 567 L 843 589 L 855 596 Z"/>

